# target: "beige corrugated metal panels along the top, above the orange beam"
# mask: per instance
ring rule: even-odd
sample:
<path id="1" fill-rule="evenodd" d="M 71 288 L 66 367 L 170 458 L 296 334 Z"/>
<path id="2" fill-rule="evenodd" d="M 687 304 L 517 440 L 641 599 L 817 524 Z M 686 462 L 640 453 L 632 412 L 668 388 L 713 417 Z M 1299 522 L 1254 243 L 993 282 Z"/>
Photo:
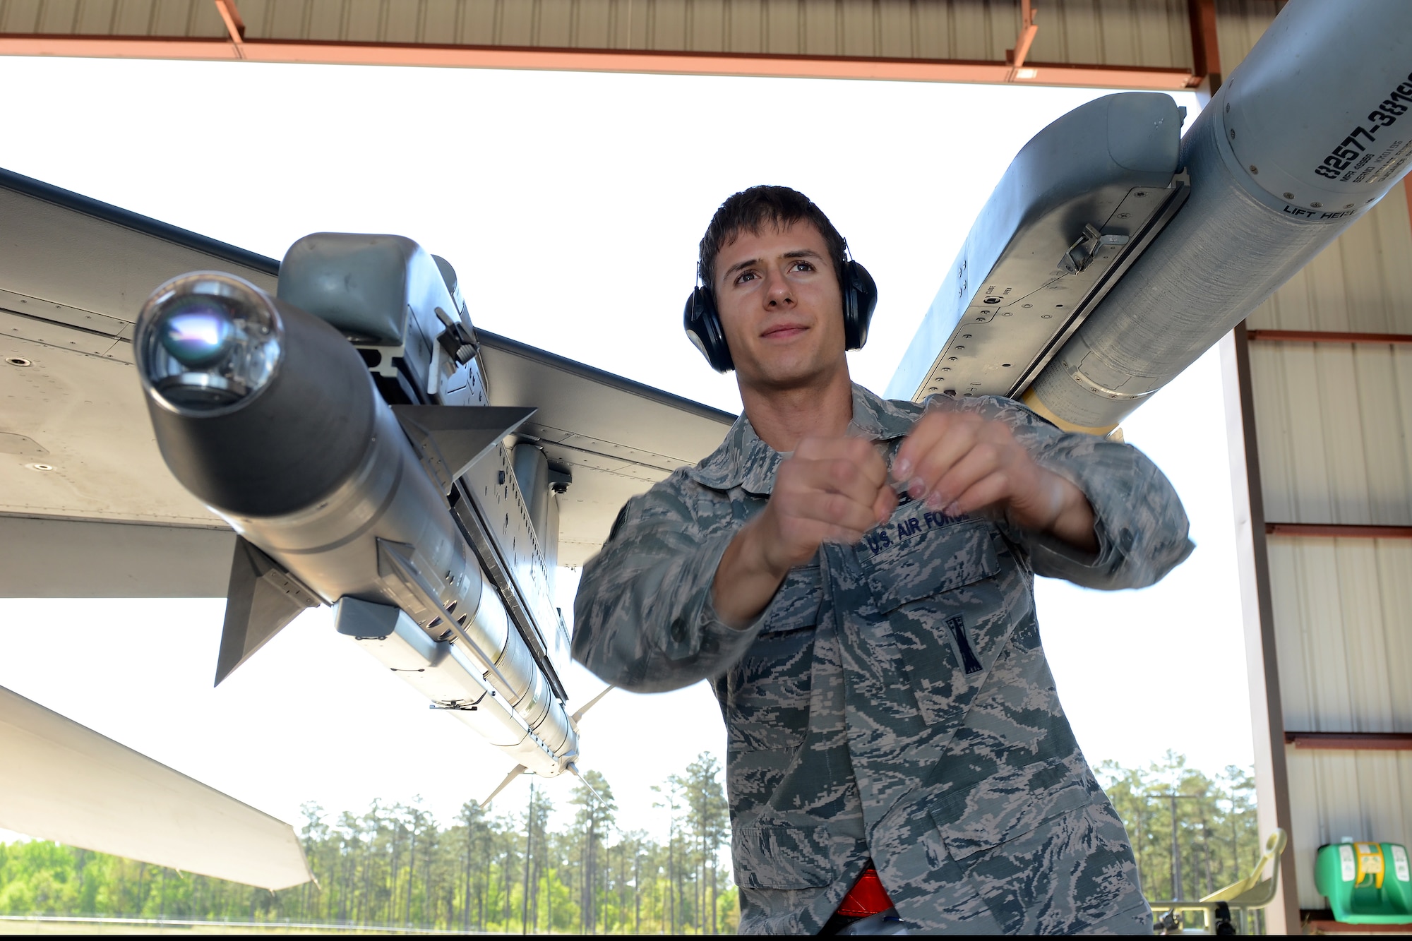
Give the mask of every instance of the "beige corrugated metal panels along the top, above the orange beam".
<path id="1" fill-rule="evenodd" d="M 1223 3 L 1258 35 L 1272 3 Z M 239 0 L 249 40 L 1004 61 L 1017 0 Z M 1238 7 L 1238 8 L 1237 8 Z M 1250 7 L 1245 10 L 1244 7 Z M 1247 20 L 1250 20 L 1247 23 Z M 1190 68 L 1185 0 L 1051 0 L 1034 62 Z M 1234 27 L 1233 27 L 1234 28 Z M 210 0 L 8 0 L 0 32 L 222 37 Z M 1254 41 L 1254 40 L 1251 40 Z"/>

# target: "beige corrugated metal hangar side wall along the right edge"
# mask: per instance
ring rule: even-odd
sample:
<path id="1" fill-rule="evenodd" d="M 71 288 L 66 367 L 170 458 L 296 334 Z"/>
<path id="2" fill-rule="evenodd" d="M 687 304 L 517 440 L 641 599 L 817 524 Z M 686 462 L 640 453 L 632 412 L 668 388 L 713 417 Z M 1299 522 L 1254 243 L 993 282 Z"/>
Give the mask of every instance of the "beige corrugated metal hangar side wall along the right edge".
<path id="1" fill-rule="evenodd" d="M 1248 326 L 1412 333 L 1402 187 Z M 1257 342 L 1250 363 L 1265 519 L 1412 526 L 1412 349 Z M 1271 537 L 1268 557 L 1285 728 L 1412 729 L 1412 541 Z M 1289 749 L 1288 760 L 1299 906 L 1323 909 L 1317 846 L 1412 841 L 1412 756 Z"/>

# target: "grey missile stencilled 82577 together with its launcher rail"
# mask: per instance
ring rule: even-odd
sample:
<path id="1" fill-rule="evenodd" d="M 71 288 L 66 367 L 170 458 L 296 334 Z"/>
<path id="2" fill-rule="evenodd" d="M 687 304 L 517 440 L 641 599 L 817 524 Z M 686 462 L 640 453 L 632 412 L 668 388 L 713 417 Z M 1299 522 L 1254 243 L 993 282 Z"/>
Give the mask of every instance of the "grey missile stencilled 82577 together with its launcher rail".
<path id="1" fill-rule="evenodd" d="M 1412 158 L 1412 3 L 1291 0 L 1202 109 L 1111 95 L 1015 157 L 888 394 L 1001 394 L 1110 432 Z"/>

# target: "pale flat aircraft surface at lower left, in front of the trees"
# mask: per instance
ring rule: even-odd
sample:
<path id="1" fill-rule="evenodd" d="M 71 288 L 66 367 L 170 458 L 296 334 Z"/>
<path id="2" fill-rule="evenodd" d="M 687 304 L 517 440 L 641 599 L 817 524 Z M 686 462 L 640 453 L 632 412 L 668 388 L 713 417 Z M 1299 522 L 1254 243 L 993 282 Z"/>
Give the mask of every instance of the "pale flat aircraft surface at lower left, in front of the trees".
<path id="1" fill-rule="evenodd" d="M 287 889 L 294 829 L 0 687 L 0 827 L 182 872 Z"/>

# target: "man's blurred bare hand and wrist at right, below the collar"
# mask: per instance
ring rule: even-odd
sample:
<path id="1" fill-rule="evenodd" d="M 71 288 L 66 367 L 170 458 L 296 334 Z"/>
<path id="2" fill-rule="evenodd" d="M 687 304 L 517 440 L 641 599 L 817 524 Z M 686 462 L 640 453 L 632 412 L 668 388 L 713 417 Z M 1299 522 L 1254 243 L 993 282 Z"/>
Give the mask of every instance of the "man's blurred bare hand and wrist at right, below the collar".
<path id="1" fill-rule="evenodd" d="M 1099 551 L 1089 499 L 1035 463 L 1003 421 L 967 411 L 928 411 L 898 448 L 892 479 L 905 483 L 914 500 L 947 516 L 994 506 L 1015 526 Z"/>

